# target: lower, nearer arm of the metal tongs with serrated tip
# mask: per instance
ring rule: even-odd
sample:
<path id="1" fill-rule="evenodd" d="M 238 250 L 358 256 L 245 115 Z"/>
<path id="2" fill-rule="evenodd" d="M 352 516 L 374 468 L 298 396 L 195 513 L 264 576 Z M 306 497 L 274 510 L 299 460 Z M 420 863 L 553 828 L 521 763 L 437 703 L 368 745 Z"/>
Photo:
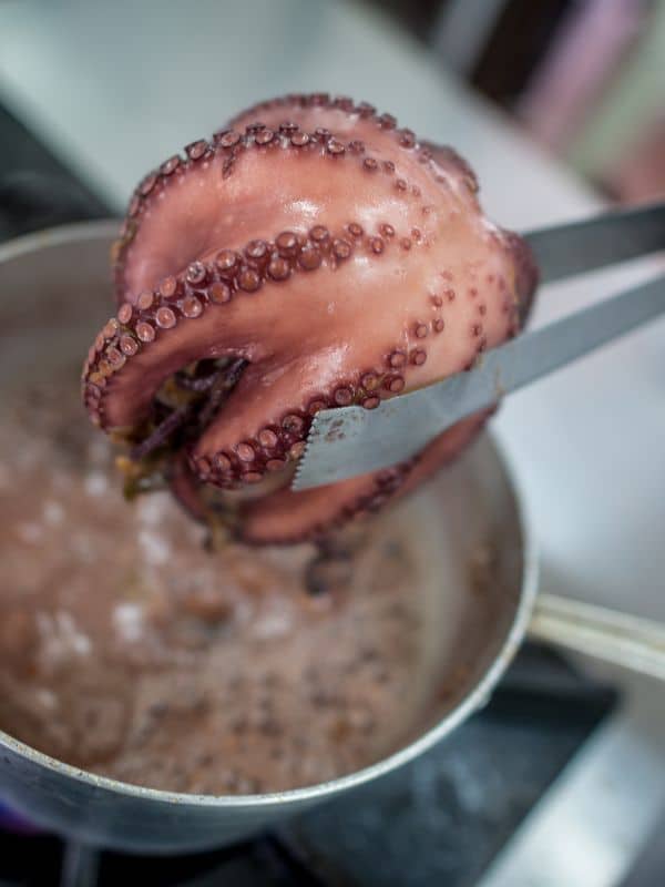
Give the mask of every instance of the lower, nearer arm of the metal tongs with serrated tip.
<path id="1" fill-rule="evenodd" d="M 385 400 L 378 409 L 358 406 L 324 409 L 314 417 L 293 488 L 321 487 L 405 461 L 460 419 L 663 313 L 665 276 L 535 333 L 518 336 L 483 355 L 480 365 L 470 373 L 458 373 Z M 565 417 L 562 421 L 565 422 Z"/>

